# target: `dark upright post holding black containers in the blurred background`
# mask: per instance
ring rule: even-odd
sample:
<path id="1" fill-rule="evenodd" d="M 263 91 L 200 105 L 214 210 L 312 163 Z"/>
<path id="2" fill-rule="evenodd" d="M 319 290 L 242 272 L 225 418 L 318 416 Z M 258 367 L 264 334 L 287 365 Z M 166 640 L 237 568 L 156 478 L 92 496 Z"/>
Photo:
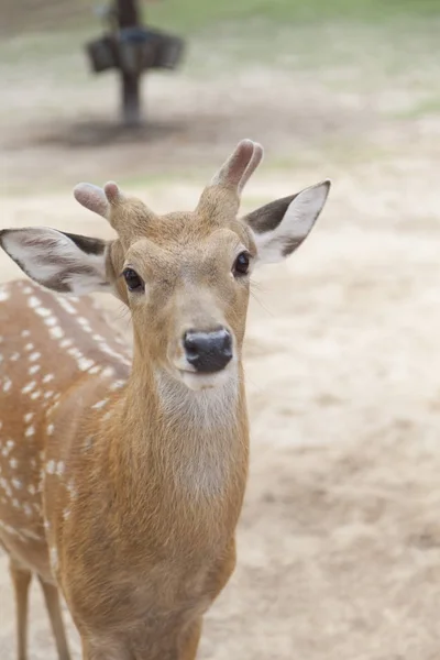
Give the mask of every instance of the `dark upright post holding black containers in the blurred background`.
<path id="1" fill-rule="evenodd" d="M 138 0 L 116 0 L 120 28 L 141 24 Z M 121 72 L 122 121 L 127 127 L 141 124 L 141 74 Z"/>

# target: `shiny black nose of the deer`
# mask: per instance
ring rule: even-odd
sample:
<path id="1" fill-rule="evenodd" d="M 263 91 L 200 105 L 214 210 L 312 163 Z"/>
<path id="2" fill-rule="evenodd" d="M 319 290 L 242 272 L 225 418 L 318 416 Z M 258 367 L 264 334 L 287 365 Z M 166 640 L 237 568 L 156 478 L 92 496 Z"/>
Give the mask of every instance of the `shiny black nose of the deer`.
<path id="1" fill-rule="evenodd" d="M 187 361 L 200 373 L 221 371 L 232 360 L 232 337 L 226 328 L 212 332 L 188 330 L 184 348 Z"/>

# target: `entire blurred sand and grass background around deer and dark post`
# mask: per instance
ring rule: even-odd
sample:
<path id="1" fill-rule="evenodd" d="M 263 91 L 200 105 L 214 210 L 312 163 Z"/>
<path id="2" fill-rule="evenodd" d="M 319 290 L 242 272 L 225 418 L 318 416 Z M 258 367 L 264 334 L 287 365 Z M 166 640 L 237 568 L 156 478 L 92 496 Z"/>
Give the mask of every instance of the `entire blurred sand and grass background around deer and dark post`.
<path id="1" fill-rule="evenodd" d="M 305 245 L 253 286 L 239 563 L 200 659 L 437 660 L 440 3 L 140 1 L 184 50 L 146 72 L 125 122 L 118 73 L 94 75 L 85 51 L 105 8 L 0 8 L 1 227 L 110 235 L 73 199 L 80 180 L 193 208 L 242 138 L 266 150 L 243 210 L 333 180 Z M 31 612 L 31 660 L 55 658 L 37 590 Z M 0 614 L 13 660 L 4 557 Z"/>

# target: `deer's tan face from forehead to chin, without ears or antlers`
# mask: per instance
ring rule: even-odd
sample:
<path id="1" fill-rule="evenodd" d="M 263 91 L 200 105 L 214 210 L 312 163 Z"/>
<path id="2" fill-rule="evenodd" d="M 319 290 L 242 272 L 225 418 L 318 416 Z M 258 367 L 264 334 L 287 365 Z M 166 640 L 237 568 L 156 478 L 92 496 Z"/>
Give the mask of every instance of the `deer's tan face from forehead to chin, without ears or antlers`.
<path id="1" fill-rule="evenodd" d="M 139 352 L 190 387 L 224 380 L 237 369 L 254 257 L 245 227 L 199 211 L 150 217 L 143 235 L 113 245 L 112 284 Z"/>

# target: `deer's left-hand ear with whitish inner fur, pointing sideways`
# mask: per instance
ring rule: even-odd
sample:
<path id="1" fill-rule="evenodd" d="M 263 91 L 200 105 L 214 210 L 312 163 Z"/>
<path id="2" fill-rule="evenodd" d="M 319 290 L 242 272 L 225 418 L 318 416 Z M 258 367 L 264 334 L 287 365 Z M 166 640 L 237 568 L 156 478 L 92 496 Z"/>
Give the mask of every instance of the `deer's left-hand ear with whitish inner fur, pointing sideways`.
<path id="1" fill-rule="evenodd" d="M 65 294 L 110 287 L 106 275 L 107 243 L 46 227 L 4 229 L 0 245 L 36 283 Z"/>

